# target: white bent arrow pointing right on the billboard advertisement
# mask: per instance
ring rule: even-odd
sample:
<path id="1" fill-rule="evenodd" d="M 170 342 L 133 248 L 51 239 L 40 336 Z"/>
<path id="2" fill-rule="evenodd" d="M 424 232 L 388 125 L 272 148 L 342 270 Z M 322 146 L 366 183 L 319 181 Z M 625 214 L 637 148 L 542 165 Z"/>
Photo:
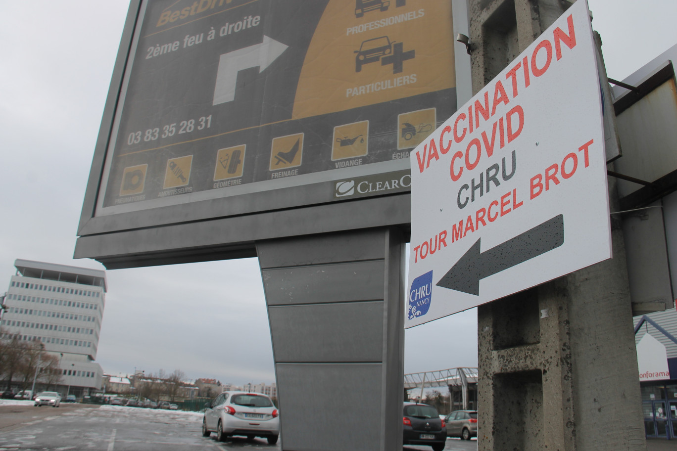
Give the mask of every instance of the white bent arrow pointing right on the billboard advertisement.
<path id="1" fill-rule="evenodd" d="M 265 70 L 289 46 L 263 35 L 260 44 L 223 53 L 219 59 L 219 70 L 216 74 L 214 101 L 212 105 L 230 102 L 235 99 L 235 83 L 240 70 L 259 66 L 259 74 Z"/>

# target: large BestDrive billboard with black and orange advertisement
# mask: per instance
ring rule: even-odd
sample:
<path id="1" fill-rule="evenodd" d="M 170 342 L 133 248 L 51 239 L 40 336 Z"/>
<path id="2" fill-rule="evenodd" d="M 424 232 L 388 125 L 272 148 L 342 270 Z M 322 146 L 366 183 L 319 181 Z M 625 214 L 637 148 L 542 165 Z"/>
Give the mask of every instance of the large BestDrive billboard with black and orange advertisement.
<path id="1" fill-rule="evenodd" d="M 134 0 L 115 71 L 81 236 L 408 193 L 456 110 L 436 0 Z"/>

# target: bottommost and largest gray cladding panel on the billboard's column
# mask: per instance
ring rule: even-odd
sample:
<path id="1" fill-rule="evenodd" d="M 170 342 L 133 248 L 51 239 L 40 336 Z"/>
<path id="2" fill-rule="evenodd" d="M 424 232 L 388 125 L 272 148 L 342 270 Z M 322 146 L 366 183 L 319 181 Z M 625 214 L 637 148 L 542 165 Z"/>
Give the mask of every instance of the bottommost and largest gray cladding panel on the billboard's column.
<path id="1" fill-rule="evenodd" d="M 276 372 L 282 449 L 382 449 L 380 364 L 277 364 Z"/>

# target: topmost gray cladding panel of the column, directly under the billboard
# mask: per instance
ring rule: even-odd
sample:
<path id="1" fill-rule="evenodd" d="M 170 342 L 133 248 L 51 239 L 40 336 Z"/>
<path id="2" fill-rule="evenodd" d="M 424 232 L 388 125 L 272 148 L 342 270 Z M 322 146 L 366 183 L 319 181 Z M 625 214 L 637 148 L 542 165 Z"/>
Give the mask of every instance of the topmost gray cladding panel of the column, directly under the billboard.
<path id="1" fill-rule="evenodd" d="M 374 260 L 385 254 L 385 240 L 379 230 L 265 241 L 258 247 L 261 268 Z"/>

